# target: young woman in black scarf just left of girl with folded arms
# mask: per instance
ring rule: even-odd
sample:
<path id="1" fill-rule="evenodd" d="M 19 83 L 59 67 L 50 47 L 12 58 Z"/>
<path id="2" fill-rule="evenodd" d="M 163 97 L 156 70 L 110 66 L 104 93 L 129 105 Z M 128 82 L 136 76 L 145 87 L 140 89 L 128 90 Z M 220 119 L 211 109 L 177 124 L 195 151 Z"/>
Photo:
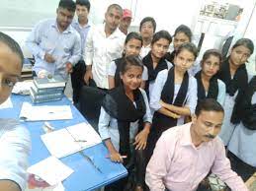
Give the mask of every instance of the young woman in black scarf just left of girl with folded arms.
<path id="1" fill-rule="evenodd" d="M 148 71 L 148 80 L 145 83 L 145 91 L 148 97 L 150 97 L 158 72 L 172 67 L 172 64 L 166 61 L 164 57 L 171 42 L 172 37 L 169 32 L 156 32 L 151 41 L 151 51 L 142 59 Z"/>

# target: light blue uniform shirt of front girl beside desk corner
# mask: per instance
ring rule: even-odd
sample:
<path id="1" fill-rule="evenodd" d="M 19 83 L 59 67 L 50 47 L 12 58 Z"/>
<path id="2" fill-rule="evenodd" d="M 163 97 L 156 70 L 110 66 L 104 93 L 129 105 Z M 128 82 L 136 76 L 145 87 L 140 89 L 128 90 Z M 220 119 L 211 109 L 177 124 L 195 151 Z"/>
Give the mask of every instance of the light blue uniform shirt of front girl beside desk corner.
<path id="1" fill-rule="evenodd" d="M 145 107 L 146 107 L 146 112 L 143 116 L 143 122 L 152 123 L 152 115 L 150 113 L 146 93 L 142 89 L 139 89 L 139 90 L 144 98 Z M 133 102 L 133 104 L 135 105 L 135 102 Z M 134 142 L 134 138 L 137 134 L 137 131 L 138 131 L 138 120 L 130 123 L 129 143 Z M 117 151 L 120 150 L 120 134 L 119 134 L 118 120 L 111 117 L 103 107 L 101 107 L 101 114 L 99 118 L 99 133 L 101 135 L 102 140 L 106 140 L 110 138 L 115 149 Z"/>

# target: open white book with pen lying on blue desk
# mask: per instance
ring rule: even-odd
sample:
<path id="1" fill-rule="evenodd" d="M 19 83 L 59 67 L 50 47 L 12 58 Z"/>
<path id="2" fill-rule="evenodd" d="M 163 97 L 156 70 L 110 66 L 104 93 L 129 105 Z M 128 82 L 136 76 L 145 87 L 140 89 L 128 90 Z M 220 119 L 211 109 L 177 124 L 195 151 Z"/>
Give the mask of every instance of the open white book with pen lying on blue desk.
<path id="1" fill-rule="evenodd" d="M 41 136 L 48 152 L 60 159 L 102 142 L 88 123 L 79 123 Z"/>

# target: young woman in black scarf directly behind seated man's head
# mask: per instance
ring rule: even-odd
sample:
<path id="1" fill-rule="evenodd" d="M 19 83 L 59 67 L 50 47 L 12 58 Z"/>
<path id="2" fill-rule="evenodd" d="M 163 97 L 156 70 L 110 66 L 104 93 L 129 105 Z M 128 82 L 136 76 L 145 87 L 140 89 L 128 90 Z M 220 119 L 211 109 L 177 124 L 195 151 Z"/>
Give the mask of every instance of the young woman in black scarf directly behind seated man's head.
<path id="1" fill-rule="evenodd" d="M 214 98 L 223 105 L 225 84 L 215 76 L 220 64 L 221 54 L 218 50 L 209 49 L 204 53 L 201 61 L 202 70 L 195 75 L 198 83 L 198 101 L 204 98 Z"/>

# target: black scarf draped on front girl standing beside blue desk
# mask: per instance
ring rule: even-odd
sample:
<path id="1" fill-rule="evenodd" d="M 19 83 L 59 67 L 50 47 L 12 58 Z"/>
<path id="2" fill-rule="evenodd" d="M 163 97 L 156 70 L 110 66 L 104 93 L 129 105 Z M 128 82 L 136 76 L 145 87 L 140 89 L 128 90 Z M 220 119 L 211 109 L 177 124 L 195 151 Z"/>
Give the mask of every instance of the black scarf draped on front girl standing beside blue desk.
<path id="1" fill-rule="evenodd" d="M 142 118 L 145 114 L 145 102 L 139 89 L 133 91 L 133 102 L 126 95 L 124 86 L 116 87 L 110 90 L 109 94 L 103 100 L 103 108 L 111 117 L 118 120 L 118 127 L 120 133 L 120 154 L 128 156 L 130 159 L 129 148 L 129 123 L 139 120 L 139 129 L 142 128 Z M 125 160 L 125 162 L 126 162 Z"/>

